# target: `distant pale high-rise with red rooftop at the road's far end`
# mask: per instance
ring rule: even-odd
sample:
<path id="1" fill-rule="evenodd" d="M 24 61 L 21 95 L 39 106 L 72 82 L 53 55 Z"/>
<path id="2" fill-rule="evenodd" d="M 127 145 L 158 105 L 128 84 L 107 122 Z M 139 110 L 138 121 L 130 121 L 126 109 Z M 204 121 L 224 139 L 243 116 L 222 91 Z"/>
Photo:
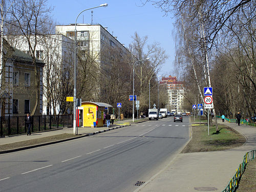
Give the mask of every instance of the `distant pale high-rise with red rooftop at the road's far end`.
<path id="1" fill-rule="evenodd" d="M 184 83 L 178 81 L 177 77 L 162 77 L 160 83 L 166 83 L 169 96 L 168 105 L 170 111 L 182 112 L 184 99 Z"/>

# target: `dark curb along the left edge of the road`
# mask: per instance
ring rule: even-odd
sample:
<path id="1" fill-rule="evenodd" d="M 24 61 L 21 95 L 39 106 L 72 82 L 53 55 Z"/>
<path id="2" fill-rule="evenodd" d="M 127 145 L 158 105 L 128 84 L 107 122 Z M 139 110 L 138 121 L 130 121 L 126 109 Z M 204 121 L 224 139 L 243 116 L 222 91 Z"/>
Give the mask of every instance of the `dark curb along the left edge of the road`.
<path id="1" fill-rule="evenodd" d="M 65 142 L 65 141 L 71 141 L 71 140 L 74 140 L 74 139 L 79 139 L 79 138 L 82 138 L 82 137 L 88 137 L 88 136 L 91 136 L 91 135 L 96 135 L 96 134 L 99 134 L 99 133 L 108 132 L 108 131 L 111 131 L 111 130 L 119 129 L 121 127 L 130 126 L 130 125 L 131 124 L 120 125 L 120 126 L 112 127 L 112 128 L 105 129 L 105 130 L 101 130 L 101 131 L 97 131 L 97 132 L 93 132 L 93 133 L 89 133 L 89 134 L 84 134 L 84 135 L 77 136 L 77 137 L 61 139 L 61 140 L 57 140 L 57 141 L 51 141 L 51 142 L 47 142 L 47 143 L 40 143 L 40 144 L 36 144 L 36 145 L 24 146 L 24 147 L 19 147 L 19 148 L 13 148 L 11 150 L 0 151 L 0 154 L 18 152 L 18 151 L 28 150 L 30 148 L 46 146 L 46 145 L 56 144 L 56 143 Z"/>

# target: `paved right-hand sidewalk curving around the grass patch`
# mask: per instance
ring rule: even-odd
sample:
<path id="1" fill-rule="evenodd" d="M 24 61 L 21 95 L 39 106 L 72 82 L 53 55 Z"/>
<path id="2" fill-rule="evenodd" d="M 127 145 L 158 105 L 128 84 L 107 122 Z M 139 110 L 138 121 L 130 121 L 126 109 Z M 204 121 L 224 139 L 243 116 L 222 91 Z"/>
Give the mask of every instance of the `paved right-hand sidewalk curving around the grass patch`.
<path id="1" fill-rule="evenodd" d="M 222 124 L 221 119 L 218 123 Z M 256 128 L 225 122 L 246 137 L 243 146 L 226 151 L 178 154 L 172 162 L 135 191 L 223 191 L 242 163 L 256 148 Z"/>

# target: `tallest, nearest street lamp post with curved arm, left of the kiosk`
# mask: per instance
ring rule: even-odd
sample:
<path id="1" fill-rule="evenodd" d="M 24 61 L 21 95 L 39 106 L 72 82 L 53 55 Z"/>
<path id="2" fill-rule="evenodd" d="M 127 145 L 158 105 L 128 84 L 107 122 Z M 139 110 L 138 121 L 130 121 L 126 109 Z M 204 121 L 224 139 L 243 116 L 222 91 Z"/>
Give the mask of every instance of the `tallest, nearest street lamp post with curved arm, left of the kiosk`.
<path id="1" fill-rule="evenodd" d="M 101 4 L 97 7 L 92 7 L 92 8 L 89 8 L 89 9 L 84 9 L 83 11 L 81 11 L 77 17 L 76 17 L 76 22 L 77 22 L 77 18 L 79 17 L 79 15 L 84 12 L 84 11 L 87 11 L 87 10 L 90 10 L 90 9 L 95 9 L 95 8 L 98 8 L 98 7 L 107 7 L 108 4 Z M 74 135 L 77 135 L 77 126 L 76 126 L 76 22 L 75 22 L 75 53 L 74 53 L 74 97 L 73 97 L 73 102 L 74 102 L 74 109 L 73 109 L 73 115 L 74 115 L 74 120 L 73 120 L 73 133 Z"/>

